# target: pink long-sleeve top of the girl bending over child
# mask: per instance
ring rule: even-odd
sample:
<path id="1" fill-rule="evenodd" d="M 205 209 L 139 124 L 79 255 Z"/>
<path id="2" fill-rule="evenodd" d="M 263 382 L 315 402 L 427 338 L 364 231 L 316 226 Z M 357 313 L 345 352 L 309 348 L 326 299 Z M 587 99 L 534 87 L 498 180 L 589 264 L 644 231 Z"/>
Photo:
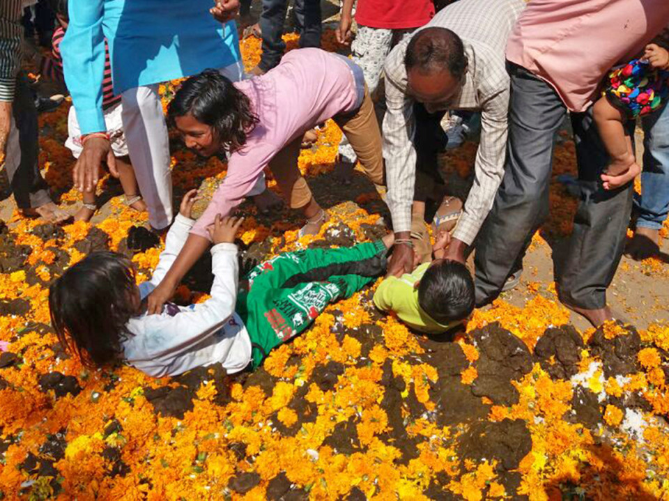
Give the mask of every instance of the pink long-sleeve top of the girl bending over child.
<path id="1" fill-rule="evenodd" d="M 245 93 L 259 123 L 232 153 L 228 172 L 191 233 L 209 238 L 207 226 L 243 201 L 272 157 L 328 118 L 353 111 L 358 88 L 351 67 L 321 49 L 298 49 L 261 77 L 234 84 Z"/>

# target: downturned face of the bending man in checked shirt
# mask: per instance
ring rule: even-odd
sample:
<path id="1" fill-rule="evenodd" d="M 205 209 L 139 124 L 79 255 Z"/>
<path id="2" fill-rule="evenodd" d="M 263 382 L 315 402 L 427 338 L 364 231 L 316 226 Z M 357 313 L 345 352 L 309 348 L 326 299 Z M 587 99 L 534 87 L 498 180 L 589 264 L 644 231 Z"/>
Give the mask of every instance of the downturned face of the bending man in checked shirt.
<path id="1" fill-rule="evenodd" d="M 407 74 L 407 92 L 418 102 L 422 102 L 428 113 L 448 109 L 461 91 L 462 82 L 448 70 L 424 72 L 412 68 Z"/>

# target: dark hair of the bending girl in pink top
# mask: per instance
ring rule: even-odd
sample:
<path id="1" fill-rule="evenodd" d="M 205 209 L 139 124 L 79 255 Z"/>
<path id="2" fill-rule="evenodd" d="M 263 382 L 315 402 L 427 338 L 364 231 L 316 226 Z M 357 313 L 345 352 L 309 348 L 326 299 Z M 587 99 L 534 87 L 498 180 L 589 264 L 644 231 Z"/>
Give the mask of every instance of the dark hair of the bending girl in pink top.
<path id="1" fill-rule="evenodd" d="M 217 70 L 204 70 L 181 84 L 169 103 L 171 125 L 178 116 L 192 115 L 213 128 L 226 151 L 236 151 L 258 123 L 251 101 Z"/>

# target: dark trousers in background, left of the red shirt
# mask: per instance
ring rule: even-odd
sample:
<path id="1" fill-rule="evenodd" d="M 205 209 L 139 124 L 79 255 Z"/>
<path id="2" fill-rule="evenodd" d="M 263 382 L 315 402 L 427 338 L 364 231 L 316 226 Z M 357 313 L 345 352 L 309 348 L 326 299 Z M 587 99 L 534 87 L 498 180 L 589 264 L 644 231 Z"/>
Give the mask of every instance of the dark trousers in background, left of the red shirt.
<path id="1" fill-rule="evenodd" d="M 282 40 L 288 0 L 263 0 L 260 28 L 263 31 L 263 55 L 259 68 L 267 72 L 274 68 L 286 50 Z M 293 12 L 300 31 L 300 47 L 321 47 L 321 2 L 295 0 Z"/>

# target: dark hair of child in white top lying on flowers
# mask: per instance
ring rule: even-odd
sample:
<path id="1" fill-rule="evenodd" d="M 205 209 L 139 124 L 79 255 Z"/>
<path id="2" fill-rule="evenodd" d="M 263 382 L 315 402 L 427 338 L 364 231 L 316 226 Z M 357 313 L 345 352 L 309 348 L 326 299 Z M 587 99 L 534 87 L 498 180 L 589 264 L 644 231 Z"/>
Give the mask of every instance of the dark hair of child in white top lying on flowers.
<path id="1" fill-rule="evenodd" d="M 121 359 L 134 316 L 132 263 L 115 252 L 93 252 L 49 287 L 51 323 L 59 341 L 88 367 Z"/>

